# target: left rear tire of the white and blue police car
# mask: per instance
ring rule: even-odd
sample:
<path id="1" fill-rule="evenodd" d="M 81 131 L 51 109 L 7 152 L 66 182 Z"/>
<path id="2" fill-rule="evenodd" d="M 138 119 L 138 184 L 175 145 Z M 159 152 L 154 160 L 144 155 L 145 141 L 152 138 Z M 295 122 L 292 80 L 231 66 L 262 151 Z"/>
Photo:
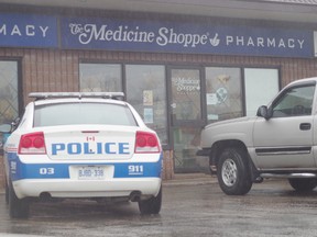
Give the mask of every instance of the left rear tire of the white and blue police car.
<path id="1" fill-rule="evenodd" d="M 12 182 L 9 182 L 8 191 L 10 217 L 28 218 L 30 213 L 30 202 L 26 199 L 19 199 L 17 196 Z"/>

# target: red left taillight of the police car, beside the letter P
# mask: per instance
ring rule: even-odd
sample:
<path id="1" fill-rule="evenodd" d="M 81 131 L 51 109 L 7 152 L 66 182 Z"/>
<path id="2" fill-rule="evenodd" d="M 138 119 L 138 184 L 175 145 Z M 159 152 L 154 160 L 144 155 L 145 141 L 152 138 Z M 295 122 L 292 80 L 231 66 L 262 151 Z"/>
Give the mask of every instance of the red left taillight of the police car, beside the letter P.
<path id="1" fill-rule="evenodd" d="M 19 154 L 46 154 L 43 132 L 24 134 L 20 138 Z"/>

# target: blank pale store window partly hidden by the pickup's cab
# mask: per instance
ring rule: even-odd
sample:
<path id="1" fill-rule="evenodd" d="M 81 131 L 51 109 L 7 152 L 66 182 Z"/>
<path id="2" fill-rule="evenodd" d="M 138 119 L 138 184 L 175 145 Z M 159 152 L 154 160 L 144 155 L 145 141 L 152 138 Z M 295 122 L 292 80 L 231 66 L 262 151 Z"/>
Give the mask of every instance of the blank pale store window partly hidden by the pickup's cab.
<path id="1" fill-rule="evenodd" d="M 254 116 L 260 105 L 266 105 L 278 92 L 278 70 L 271 68 L 245 68 L 245 114 Z"/>

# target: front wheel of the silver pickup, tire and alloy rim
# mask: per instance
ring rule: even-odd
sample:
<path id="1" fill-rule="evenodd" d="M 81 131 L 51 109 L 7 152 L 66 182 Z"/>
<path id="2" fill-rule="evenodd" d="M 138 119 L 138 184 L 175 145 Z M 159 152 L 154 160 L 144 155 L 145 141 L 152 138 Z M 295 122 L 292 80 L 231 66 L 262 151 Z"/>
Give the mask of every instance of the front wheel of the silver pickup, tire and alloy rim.
<path id="1" fill-rule="evenodd" d="M 239 148 L 226 148 L 217 163 L 217 177 L 226 194 L 247 194 L 251 190 L 252 181 L 245 153 Z"/>

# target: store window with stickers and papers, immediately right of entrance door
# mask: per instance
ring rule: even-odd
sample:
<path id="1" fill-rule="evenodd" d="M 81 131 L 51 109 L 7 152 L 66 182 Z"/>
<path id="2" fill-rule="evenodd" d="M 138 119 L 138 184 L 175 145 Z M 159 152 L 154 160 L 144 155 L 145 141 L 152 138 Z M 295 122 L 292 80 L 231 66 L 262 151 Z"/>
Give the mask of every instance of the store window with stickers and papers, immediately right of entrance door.
<path id="1" fill-rule="evenodd" d="M 242 116 L 241 69 L 207 67 L 205 70 L 208 123 Z"/>

